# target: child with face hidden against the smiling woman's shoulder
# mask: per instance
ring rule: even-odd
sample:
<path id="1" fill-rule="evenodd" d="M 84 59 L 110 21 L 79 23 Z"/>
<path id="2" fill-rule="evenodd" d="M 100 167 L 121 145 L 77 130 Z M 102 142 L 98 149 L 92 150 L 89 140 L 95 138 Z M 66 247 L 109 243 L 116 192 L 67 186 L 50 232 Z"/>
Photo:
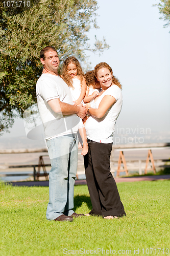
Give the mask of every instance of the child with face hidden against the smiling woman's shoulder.
<path id="1" fill-rule="evenodd" d="M 84 102 L 87 103 L 99 96 L 101 85 L 94 75 L 94 70 L 88 71 L 84 75 L 84 78 L 87 84 L 87 91 L 84 97 Z"/>

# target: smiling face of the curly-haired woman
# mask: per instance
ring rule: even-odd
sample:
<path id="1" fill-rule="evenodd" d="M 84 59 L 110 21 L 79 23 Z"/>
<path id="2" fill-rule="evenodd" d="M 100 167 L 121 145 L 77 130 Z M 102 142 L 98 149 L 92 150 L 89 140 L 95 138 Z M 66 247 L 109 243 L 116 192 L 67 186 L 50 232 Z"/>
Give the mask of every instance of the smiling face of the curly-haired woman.
<path id="1" fill-rule="evenodd" d="M 112 84 L 112 74 L 107 68 L 98 70 L 97 79 L 101 84 L 101 87 L 110 87 Z"/>

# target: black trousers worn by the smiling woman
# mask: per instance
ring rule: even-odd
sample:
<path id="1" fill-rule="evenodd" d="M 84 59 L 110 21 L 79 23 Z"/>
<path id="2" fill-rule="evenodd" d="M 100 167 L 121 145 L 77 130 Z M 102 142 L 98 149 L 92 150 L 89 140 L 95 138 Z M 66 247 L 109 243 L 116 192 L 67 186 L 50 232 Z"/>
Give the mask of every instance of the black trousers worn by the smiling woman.
<path id="1" fill-rule="evenodd" d="M 88 153 L 84 156 L 87 186 L 91 198 L 91 215 L 124 216 L 116 182 L 110 172 L 112 143 L 88 140 Z"/>

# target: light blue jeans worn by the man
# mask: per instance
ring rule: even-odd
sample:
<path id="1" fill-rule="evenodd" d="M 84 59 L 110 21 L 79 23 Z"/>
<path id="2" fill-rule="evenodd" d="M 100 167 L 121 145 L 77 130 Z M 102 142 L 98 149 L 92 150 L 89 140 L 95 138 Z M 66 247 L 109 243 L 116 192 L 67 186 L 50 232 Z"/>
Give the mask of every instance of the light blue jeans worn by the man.
<path id="1" fill-rule="evenodd" d="M 74 213 L 74 184 L 78 164 L 77 134 L 69 134 L 47 141 L 52 168 L 49 175 L 49 203 L 46 218 Z"/>

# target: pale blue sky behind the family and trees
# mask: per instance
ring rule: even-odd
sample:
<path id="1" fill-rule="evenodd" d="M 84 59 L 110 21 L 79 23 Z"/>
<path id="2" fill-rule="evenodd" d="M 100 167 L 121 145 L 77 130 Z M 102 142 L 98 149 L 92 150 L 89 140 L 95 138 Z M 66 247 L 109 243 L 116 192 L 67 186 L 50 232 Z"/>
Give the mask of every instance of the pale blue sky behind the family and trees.
<path id="1" fill-rule="evenodd" d="M 94 35 L 106 38 L 109 50 L 101 56 L 88 53 L 91 67 L 107 62 L 113 74 L 123 84 L 123 109 L 117 120 L 117 129 L 150 129 L 150 136 L 161 136 L 170 141 L 170 34 L 163 28 L 165 22 L 155 0 L 98 0 L 97 23 L 100 29 L 91 29 Z M 118 131 L 118 130 L 117 130 Z M 25 135 L 23 121 L 16 120 L 11 134 Z M 165 138 L 166 137 L 166 138 Z M 154 142 L 154 140 L 153 140 Z"/>

